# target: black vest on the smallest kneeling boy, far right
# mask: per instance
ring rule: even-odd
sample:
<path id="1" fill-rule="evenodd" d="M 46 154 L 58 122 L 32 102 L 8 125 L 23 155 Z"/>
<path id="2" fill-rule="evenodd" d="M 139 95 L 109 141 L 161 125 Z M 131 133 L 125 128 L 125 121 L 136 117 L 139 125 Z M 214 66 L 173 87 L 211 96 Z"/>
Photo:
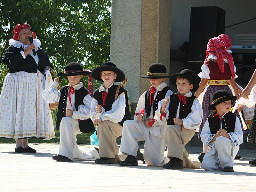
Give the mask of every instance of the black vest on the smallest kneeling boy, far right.
<path id="1" fill-rule="evenodd" d="M 220 118 L 219 116 L 214 116 L 216 112 L 212 113 L 208 117 L 208 122 L 210 126 L 210 130 L 212 134 L 216 134 L 217 131 L 220 129 Z M 225 129 L 228 133 L 235 131 L 235 124 L 236 124 L 236 114 L 232 112 L 226 113 L 223 118 L 221 119 L 222 129 Z"/>

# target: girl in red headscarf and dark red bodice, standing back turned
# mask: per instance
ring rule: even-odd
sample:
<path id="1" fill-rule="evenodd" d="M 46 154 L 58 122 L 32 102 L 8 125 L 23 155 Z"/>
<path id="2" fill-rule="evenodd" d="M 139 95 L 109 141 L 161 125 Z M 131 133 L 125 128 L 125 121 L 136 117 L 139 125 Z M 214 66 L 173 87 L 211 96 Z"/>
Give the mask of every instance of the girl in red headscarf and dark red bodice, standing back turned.
<path id="1" fill-rule="evenodd" d="M 232 52 L 229 50 L 230 47 L 231 39 L 226 34 L 211 38 L 207 44 L 206 58 L 201 67 L 202 72 L 198 74 L 201 78 L 201 82 L 196 91 L 196 97 L 198 100 L 201 100 L 204 111 L 203 121 L 198 132 L 199 139 L 205 121 L 208 116 L 213 113 L 213 111 L 209 110 L 209 106 L 212 104 L 213 93 L 224 89 L 232 95 L 232 91 L 228 86 L 230 84 L 234 89 L 234 95 L 237 99 L 240 98 L 235 81 L 235 78 L 238 76 L 235 74 L 236 67 L 234 66 L 234 61 L 230 54 Z M 198 156 L 199 161 L 202 162 L 208 149 L 209 147 L 204 145 L 203 152 Z"/>

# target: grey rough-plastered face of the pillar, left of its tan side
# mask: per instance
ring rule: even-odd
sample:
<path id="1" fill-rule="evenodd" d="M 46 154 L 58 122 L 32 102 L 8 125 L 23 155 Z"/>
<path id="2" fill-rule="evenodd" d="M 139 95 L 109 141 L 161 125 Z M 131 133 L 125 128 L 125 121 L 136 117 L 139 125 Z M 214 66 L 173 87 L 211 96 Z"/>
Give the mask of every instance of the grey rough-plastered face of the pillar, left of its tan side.
<path id="1" fill-rule="evenodd" d="M 110 61 L 127 76 L 131 102 L 140 97 L 141 0 L 113 0 Z"/>

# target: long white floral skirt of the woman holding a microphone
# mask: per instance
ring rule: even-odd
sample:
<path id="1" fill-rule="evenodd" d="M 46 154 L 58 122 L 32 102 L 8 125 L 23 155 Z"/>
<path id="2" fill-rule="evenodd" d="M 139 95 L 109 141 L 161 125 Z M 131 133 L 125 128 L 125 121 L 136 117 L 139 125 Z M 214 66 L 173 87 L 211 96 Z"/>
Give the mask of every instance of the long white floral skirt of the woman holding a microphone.
<path id="1" fill-rule="evenodd" d="M 49 104 L 42 97 L 45 77 L 19 71 L 8 73 L 0 95 L 0 137 L 55 137 Z"/>

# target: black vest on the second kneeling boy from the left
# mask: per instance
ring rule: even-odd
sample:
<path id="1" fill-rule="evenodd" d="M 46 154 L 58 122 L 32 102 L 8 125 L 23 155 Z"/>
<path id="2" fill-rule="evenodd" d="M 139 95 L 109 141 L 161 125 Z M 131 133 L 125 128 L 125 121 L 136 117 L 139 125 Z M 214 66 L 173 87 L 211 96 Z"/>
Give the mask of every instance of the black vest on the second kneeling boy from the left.
<path id="1" fill-rule="evenodd" d="M 105 112 L 111 110 L 112 108 L 112 104 L 115 102 L 115 96 L 116 96 L 116 89 L 117 89 L 118 85 L 113 84 L 111 87 L 108 88 L 108 95 L 106 98 L 106 102 L 105 102 Z M 102 93 L 104 91 L 100 92 L 100 88 L 96 89 L 93 94 L 92 97 L 98 101 L 98 104 L 102 106 L 103 100 L 102 100 Z M 124 92 L 125 95 L 125 114 L 124 114 L 124 118 L 122 119 L 122 121 L 118 122 L 118 124 L 120 124 L 121 126 L 123 126 L 124 121 L 126 120 L 130 120 L 131 119 L 131 113 L 129 111 L 129 103 L 128 103 L 128 94 L 127 91 L 123 88 L 120 87 L 118 95 L 120 95 L 121 93 Z"/>

